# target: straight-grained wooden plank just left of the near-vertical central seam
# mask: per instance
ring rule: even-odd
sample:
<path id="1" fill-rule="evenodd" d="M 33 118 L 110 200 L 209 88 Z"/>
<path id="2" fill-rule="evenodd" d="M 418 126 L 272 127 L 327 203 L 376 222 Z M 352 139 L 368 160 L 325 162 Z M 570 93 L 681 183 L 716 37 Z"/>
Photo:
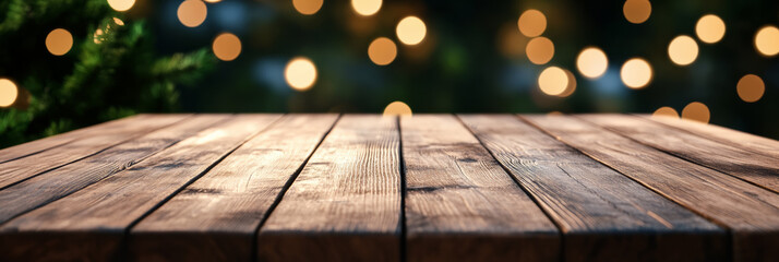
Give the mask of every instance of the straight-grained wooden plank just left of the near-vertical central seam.
<path id="1" fill-rule="evenodd" d="M 341 117 L 260 229 L 261 261 L 398 261 L 397 120 Z"/>

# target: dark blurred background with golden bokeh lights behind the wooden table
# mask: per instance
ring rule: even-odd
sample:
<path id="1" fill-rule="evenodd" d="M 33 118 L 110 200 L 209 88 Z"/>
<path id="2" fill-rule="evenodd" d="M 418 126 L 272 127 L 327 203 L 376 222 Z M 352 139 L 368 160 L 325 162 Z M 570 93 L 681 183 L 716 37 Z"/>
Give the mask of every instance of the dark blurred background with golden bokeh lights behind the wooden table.
<path id="1" fill-rule="evenodd" d="M 139 112 L 643 112 L 779 139 L 779 1 L 3 0 L 0 147 Z"/>

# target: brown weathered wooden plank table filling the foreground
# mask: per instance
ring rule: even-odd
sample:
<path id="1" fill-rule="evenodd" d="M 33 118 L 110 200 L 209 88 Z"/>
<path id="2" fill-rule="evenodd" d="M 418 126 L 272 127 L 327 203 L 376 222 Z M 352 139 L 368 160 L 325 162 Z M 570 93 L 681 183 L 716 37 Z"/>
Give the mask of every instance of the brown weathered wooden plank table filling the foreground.
<path id="1" fill-rule="evenodd" d="M 779 261 L 779 142 L 633 115 L 140 115 L 0 151 L 0 261 Z"/>

